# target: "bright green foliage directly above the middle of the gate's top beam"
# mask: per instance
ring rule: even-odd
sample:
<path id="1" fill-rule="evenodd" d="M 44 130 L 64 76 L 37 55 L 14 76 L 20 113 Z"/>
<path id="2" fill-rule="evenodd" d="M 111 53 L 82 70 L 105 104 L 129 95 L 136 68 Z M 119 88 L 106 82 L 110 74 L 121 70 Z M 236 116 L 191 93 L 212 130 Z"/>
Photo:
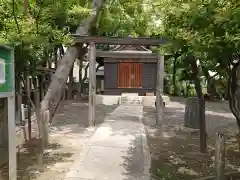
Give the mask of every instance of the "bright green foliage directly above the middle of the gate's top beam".
<path id="1" fill-rule="evenodd" d="M 151 21 L 144 0 L 112 0 L 104 6 L 97 21 L 97 35 L 146 36 Z"/>

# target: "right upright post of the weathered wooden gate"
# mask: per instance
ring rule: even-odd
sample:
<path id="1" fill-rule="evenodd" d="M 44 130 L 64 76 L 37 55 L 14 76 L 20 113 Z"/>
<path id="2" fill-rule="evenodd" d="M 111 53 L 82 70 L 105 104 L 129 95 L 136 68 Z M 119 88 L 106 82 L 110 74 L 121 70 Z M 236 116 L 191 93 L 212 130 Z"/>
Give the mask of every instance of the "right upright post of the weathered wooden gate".
<path id="1" fill-rule="evenodd" d="M 157 86 L 156 86 L 156 124 L 161 125 L 163 120 L 163 86 L 164 86 L 164 56 L 157 60 Z"/>

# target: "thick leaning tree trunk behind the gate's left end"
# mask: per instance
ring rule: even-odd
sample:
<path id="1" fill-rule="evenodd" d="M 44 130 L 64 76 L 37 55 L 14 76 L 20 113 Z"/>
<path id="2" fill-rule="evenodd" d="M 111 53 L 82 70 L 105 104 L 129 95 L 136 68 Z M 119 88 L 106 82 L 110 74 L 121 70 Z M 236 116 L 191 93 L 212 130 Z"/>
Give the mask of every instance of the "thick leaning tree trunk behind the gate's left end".
<path id="1" fill-rule="evenodd" d="M 93 9 L 91 15 L 83 22 L 77 29 L 76 34 L 79 35 L 87 35 L 91 26 L 95 22 L 98 13 L 101 10 L 101 7 L 104 4 L 104 0 L 98 0 L 97 2 L 94 0 Z M 59 101 L 59 99 L 55 99 L 56 94 L 62 90 L 65 85 L 68 75 L 70 73 L 71 67 L 74 61 L 84 55 L 86 53 L 86 48 L 72 46 L 68 48 L 67 52 L 63 56 L 62 59 L 59 60 L 58 67 L 56 69 L 55 74 L 52 77 L 52 81 L 49 85 L 48 91 L 41 102 L 41 114 L 49 111 L 51 104 L 55 104 L 54 101 Z M 47 124 L 48 122 L 43 122 Z M 47 127 L 47 126 L 44 126 Z M 45 129 L 47 131 L 47 129 Z M 41 137 L 44 137 L 42 134 Z M 48 138 L 48 137 L 46 137 Z M 45 139 L 44 141 L 48 141 Z"/>

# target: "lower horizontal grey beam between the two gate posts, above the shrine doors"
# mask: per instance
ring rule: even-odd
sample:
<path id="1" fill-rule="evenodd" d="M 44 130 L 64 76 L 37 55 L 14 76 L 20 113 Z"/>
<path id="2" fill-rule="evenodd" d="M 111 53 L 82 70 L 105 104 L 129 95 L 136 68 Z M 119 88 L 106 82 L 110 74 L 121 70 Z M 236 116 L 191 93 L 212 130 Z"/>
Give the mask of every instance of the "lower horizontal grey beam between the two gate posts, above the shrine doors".
<path id="1" fill-rule="evenodd" d="M 114 51 L 97 51 L 96 57 L 105 58 L 116 58 L 116 59 L 155 59 L 157 60 L 158 55 L 156 53 L 142 53 L 140 52 L 114 52 Z"/>

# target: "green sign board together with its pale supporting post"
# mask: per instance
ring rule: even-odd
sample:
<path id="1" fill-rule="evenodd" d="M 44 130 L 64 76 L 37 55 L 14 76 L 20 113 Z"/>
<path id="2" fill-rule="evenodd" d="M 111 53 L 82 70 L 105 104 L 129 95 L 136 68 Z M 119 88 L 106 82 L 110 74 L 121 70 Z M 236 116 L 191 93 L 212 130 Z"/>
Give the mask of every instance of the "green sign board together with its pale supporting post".
<path id="1" fill-rule="evenodd" d="M 0 98 L 8 99 L 9 180 L 17 180 L 14 51 L 0 45 Z"/>

